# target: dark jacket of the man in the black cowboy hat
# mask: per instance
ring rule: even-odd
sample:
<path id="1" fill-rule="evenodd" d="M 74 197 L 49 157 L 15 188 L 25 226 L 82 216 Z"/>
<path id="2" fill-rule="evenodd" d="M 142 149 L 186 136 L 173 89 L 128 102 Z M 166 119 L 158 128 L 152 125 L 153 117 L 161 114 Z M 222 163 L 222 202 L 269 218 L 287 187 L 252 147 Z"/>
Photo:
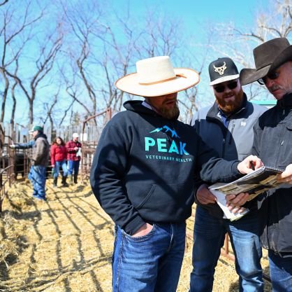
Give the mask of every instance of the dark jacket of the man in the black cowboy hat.
<path id="1" fill-rule="evenodd" d="M 259 118 L 254 127 L 253 154 L 264 165 L 285 169 L 292 163 L 292 93 Z M 261 244 L 281 256 L 292 256 L 292 186 L 282 184 L 259 200 Z"/>

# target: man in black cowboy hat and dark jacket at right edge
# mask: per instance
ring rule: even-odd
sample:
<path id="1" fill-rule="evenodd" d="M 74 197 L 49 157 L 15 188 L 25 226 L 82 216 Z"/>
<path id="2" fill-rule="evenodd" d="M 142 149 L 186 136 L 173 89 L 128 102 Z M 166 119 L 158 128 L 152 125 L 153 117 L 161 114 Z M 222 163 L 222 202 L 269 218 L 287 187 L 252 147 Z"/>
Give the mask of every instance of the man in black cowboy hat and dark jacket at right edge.
<path id="1" fill-rule="evenodd" d="M 256 69 L 242 69 L 242 84 L 258 81 L 277 104 L 254 127 L 253 153 L 285 171 L 281 186 L 259 197 L 261 244 L 268 249 L 273 291 L 292 291 L 292 46 L 285 38 L 254 48 Z"/>

